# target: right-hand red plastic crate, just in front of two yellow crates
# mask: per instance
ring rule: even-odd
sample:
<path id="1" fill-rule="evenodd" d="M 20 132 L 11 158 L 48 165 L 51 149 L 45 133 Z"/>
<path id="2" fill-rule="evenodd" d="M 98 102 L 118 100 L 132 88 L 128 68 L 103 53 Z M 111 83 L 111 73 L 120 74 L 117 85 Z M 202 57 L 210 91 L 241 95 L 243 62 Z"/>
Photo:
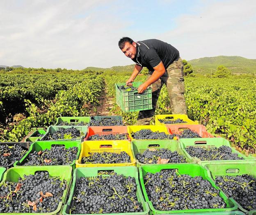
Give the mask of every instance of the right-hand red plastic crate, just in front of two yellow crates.
<path id="1" fill-rule="evenodd" d="M 183 130 L 190 129 L 194 132 L 197 132 L 203 138 L 214 137 L 206 130 L 206 127 L 201 124 L 168 124 L 166 127 L 170 134 L 181 134 Z"/>

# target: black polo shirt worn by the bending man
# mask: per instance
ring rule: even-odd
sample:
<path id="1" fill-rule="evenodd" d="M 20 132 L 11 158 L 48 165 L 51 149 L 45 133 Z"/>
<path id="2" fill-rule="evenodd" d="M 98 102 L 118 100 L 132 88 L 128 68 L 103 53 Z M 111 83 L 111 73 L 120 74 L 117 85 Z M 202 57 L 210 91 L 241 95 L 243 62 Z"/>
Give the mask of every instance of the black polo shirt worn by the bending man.
<path id="1" fill-rule="evenodd" d="M 162 61 L 165 69 L 175 60 L 178 60 L 180 54 L 172 45 L 157 39 L 149 39 L 137 42 L 137 53 L 133 59 L 139 66 L 149 69 L 152 74 L 154 67 Z"/>

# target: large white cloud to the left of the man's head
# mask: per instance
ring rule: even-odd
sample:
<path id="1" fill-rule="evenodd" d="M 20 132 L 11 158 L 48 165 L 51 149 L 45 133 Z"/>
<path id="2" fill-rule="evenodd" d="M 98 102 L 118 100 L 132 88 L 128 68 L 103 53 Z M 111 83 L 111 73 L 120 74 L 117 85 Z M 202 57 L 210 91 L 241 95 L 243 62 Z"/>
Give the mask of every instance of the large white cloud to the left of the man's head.
<path id="1" fill-rule="evenodd" d="M 72 69 L 118 65 L 124 59 L 117 43 L 125 23 L 109 11 L 97 9 L 109 3 L 102 0 L 0 3 L 0 64 Z M 123 63 L 131 63 L 127 60 Z"/>

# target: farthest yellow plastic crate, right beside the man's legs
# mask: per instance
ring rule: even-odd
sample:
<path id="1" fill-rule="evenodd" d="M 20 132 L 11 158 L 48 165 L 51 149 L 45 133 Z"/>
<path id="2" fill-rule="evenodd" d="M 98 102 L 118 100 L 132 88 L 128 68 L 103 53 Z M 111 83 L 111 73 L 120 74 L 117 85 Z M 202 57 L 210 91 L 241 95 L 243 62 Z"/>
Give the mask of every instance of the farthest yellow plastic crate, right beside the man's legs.
<path id="1" fill-rule="evenodd" d="M 155 115 L 155 125 L 165 125 L 159 120 L 177 120 L 180 118 L 186 123 L 176 123 L 176 124 L 199 124 L 197 120 L 190 120 L 186 114 L 167 114 L 167 115 Z"/>

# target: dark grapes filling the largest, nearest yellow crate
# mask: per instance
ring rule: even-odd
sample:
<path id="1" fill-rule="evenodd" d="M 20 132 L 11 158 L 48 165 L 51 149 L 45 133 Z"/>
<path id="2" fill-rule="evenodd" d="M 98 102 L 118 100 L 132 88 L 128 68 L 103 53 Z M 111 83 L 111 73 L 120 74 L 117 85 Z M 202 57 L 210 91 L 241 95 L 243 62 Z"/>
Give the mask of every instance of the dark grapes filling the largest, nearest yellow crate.
<path id="1" fill-rule="evenodd" d="M 84 163 L 130 163 L 130 156 L 126 152 L 112 153 L 89 153 L 89 156 L 82 157 L 82 164 Z"/>

